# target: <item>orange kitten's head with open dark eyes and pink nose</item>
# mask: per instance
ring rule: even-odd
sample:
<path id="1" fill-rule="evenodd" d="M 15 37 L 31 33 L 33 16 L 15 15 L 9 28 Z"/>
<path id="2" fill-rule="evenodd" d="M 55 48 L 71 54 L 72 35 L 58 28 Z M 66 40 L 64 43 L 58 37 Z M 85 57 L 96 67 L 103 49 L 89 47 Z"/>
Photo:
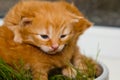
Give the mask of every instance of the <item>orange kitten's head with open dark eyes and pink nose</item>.
<path id="1" fill-rule="evenodd" d="M 72 22 L 62 20 L 49 21 L 34 18 L 23 18 L 17 33 L 17 42 L 32 44 L 42 51 L 55 54 L 64 49 L 74 36 Z M 75 21 L 76 22 L 76 21 Z"/>

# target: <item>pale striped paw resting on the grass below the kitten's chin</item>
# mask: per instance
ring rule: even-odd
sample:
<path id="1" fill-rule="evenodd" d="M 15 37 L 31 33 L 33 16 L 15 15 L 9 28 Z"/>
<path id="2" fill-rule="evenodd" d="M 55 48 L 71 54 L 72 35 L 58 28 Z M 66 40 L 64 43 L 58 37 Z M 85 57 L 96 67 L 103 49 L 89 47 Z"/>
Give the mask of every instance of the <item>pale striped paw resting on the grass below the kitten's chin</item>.
<path id="1" fill-rule="evenodd" d="M 77 75 L 77 71 L 72 67 L 66 67 L 62 70 L 62 74 L 69 78 L 75 78 Z"/>

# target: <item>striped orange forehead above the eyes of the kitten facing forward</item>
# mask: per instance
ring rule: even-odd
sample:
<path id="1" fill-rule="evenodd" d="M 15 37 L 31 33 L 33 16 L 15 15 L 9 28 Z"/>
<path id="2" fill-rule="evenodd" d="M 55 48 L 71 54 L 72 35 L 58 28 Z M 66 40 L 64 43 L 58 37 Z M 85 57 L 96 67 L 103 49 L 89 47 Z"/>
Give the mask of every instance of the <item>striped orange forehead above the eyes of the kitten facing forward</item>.
<path id="1" fill-rule="evenodd" d="M 48 17 L 47 19 L 43 19 L 42 21 L 41 17 L 36 17 L 36 19 L 34 20 L 34 24 L 36 25 L 35 30 L 38 34 L 47 34 L 50 37 L 52 37 L 53 34 L 69 34 L 71 30 L 70 23 L 63 17 L 58 17 L 57 19 L 53 17 Z"/>

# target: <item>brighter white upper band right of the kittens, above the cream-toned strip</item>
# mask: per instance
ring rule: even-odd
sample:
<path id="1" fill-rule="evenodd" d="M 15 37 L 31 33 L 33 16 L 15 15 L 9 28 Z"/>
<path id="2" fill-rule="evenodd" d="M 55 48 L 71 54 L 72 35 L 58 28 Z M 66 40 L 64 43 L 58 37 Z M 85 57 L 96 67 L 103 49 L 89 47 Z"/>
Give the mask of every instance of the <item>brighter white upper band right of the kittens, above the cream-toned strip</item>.
<path id="1" fill-rule="evenodd" d="M 96 55 L 99 47 L 101 55 L 120 58 L 120 28 L 92 27 L 80 37 L 78 44 L 86 53 Z"/>

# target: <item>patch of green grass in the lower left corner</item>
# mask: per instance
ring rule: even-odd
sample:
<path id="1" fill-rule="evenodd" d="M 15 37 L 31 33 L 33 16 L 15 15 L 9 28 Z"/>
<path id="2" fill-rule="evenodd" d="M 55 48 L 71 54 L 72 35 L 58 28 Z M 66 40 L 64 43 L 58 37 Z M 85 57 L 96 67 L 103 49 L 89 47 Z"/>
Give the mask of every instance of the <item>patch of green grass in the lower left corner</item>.
<path id="1" fill-rule="evenodd" d="M 32 80 L 30 71 L 24 70 L 22 66 L 16 66 L 15 70 L 0 59 L 0 80 Z"/>

